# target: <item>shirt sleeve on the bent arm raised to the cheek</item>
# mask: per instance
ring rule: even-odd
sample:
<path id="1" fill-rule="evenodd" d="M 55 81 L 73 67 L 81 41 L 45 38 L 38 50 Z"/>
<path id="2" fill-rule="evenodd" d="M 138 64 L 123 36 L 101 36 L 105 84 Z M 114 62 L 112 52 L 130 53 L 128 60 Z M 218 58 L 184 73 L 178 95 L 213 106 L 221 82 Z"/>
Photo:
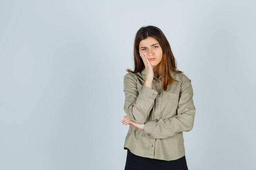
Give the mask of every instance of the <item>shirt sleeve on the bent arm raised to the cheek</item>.
<path id="1" fill-rule="evenodd" d="M 148 119 L 150 110 L 154 106 L 157 91 L 147 86 L 137 89 L 137 81 L 133 75 L 127 73 L 124 76 L 124 111 L 138 124 L 144 124 Z"/>

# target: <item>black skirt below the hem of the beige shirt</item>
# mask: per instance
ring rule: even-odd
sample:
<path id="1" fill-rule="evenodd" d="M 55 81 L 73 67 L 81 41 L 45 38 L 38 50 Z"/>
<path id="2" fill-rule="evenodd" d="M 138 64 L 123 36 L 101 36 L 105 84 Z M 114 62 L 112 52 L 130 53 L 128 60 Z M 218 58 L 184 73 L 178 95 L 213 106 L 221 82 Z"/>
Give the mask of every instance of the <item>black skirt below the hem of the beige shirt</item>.
<path id="1" fill-rule="evenodd" d="M 188 170 L 188 167 L 185 156 L 173 161 L 165 161 L 140 157 L 128 149 L 124 170 Z"/>

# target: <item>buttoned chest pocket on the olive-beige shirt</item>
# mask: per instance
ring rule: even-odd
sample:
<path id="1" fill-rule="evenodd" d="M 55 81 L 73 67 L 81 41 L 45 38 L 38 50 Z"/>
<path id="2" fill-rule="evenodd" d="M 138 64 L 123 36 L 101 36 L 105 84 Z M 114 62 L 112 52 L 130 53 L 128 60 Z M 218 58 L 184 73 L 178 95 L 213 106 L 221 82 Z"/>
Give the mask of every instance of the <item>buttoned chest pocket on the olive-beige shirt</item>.
<path id="1" fill-rule="evenodd" d="M 171 117 L 177 115 L 177 108 L 179 103 L 179 94 L 168 93 L 167 113 L 171 114 Z"/>

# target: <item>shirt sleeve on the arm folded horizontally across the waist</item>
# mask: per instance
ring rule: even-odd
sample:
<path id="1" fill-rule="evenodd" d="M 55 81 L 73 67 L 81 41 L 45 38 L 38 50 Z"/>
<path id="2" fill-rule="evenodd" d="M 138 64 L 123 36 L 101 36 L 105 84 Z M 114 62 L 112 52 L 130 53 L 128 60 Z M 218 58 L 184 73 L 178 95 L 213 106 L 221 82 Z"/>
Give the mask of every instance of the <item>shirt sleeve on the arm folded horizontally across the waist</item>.
<path id="1" fill-rule="evenodd" d="M 144 132 L 148 134 L 148 137 L 162 139 L 172 137 L 179 132 L 192 130 L 195 118 L 195 106 L 192 98 L 193 88 L 191 80 L 184 74 L 183 77 L 177 115 L 158 121 L 146 121 Z"/>

